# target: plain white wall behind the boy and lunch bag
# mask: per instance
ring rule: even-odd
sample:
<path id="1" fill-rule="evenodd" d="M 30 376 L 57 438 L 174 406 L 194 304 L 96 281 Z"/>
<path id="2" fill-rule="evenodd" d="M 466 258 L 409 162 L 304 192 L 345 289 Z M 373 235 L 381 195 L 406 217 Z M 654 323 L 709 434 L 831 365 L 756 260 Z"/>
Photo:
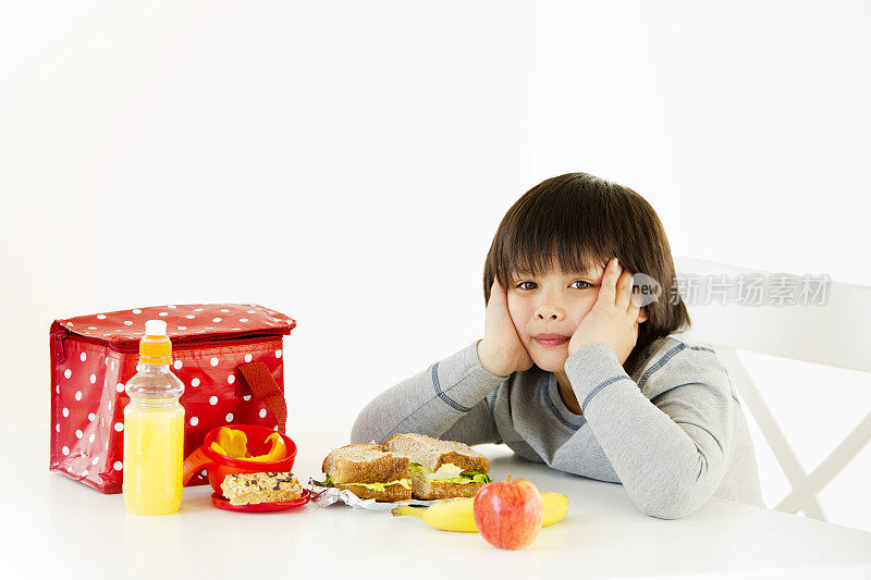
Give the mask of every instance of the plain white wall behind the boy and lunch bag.
<path id="1" fill-rule="evenodd" d="M 289 433 L 349 431 L 481 336 L 496 225 L 569 171 L 643 195 L 675 256 L 871 285 L 869 33 L 864 1 L 2 2 L 0 419 L 48 430 L 56 318 L 240 301 L 298 320 Z M 747 362 L 807 471 L 871 406 Z M 870 456 L 832 521 L 871 530 Z"/>

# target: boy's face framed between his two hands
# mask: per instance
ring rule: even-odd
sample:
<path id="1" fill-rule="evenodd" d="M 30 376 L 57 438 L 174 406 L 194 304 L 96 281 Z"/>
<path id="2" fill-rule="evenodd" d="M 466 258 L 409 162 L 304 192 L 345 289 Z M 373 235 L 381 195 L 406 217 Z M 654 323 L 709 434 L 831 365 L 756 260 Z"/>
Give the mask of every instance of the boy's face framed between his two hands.
<path id="1" fill-rule="evenodd" d="M 604 269 L 564 272 L 552 261 L 547 274 L 516 274 L 507 288 L 508 313 L 532 361 L 544 371 L 562 372 L 568 341 L 599 297 Z M 557 337 L 542 335 L 559 335 Z"/>

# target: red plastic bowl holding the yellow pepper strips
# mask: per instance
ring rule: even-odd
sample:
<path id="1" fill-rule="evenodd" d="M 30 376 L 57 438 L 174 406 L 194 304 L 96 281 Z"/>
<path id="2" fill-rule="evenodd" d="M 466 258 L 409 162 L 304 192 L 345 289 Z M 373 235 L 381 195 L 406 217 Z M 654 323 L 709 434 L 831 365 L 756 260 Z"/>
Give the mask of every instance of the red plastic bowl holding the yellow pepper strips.
<path id="1" fill-rule="evenodd" d="M 245 432 L 245 436 L 248 439 L 248 452 L 252 455 L 263 455 L 271 448 L 271 444 L 266 443 L 266 437 L 273 433 L 269 428 L 253 424 L 216 427 L 206 433 L 203 445 L 185 458 L 182 483 L 187 484 L 191 478 L 205 469 L 208 473 L 211 489 L 218 493 L 223 493 L 221 483 L 223 483 L 226 476 L 259 473 L 262 471 L 291 471 L 293 469 L 293 461 L 296 459 L 296 443 L 284 433 L 279 433 L 284 441 L 284 445 L 287 446 L 287 455 L 283 459 L 278 461 L 245 461 L 221 455 L 211 448 L 211 444 L 218 441 L 218 432 L 223 427 Z"/>

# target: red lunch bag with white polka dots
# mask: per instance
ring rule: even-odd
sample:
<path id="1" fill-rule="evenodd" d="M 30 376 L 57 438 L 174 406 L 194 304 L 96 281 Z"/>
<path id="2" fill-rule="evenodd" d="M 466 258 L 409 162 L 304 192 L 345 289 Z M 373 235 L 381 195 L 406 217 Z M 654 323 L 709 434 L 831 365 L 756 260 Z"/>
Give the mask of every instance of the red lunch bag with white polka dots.
<path id="1" fill-rule="evenodd" d="M 165 320 L 172 370 L 184 383 L 185 457 L 206 432 L 249 423 L 284 432 L 282 340 L 296 321 L 258 305 L 168 305 L 51 324 L 51 457 L 60 471 L 121 493 L 124 383 L 136 374 L 145 321 Z M 197 473 L 188 485 L 208 483 Z"/>

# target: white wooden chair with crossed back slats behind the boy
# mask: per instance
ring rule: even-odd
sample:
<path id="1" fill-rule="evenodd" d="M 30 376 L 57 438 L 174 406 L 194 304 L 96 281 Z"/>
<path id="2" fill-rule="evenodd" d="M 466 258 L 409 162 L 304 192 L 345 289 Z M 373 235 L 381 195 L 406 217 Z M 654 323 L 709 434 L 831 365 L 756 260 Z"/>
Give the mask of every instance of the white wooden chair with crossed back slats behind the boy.
<path id="1" fill-rule="evenodd" d="M 817 494 L 871 440 L 871 412 L 819 467 L 806 473 L 737 350 L 871 373 L 871 287 L 831 280 L 820 280 L 814 285 L 812 280 L 808 284 L 807 275 L 790 276 L 687 257 L 676 258 L 675 267 L 692 322 L 688 334 L 716 349 L 792 486 L 774 509 L 787 514 L 803 510 L 808 517 L 826 520 Z M 752 304 L 748 296 L 759 293 L 758 283 L 752 289 L 752 281 L 760 279 L 769 288 L 762 304 Z M 702 296 L 706 292 L 699 287 L 710 291 L 707 296 L 712 299 Z M 813 295 L 820 287 L 824 294 Z M 801 291 L 803 294 L 799 294 Z M 798 296 L 797 304 L 790 304 L 790 294 Z M 774 304 L 769 303 L 772 296 Z"/>

